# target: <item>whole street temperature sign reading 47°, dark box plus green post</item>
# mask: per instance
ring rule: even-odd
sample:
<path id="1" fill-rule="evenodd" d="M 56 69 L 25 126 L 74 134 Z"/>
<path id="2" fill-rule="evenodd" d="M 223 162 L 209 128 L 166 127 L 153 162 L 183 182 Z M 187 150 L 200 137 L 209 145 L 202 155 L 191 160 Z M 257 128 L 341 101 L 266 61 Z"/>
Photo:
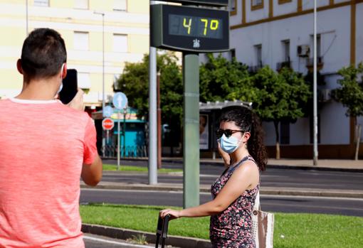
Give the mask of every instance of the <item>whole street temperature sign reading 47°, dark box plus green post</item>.
<path id="1" fill-rule="evenodd" d="M 181 4 L 228 6 L 228 0 L 170 0 Z M 183 52 L 183 192 L 185 207 L 199 205 L 199 55 L 229 50 L 229 11 L 152 4 L 150 45 Z M 154 59 L 150 56 L 150 65 Z M 152 68 L 150 66 L 150 68 Z M 152 69 L 154 70 L 154 68 Z M 152 70 L 150 69 L 150 75 Z M 154 88 L 152 80 L 150 89 Z M 151 99 L 152 95 L 150 95 Z M 152 160 L 152 159 L 151 159 Z"/>

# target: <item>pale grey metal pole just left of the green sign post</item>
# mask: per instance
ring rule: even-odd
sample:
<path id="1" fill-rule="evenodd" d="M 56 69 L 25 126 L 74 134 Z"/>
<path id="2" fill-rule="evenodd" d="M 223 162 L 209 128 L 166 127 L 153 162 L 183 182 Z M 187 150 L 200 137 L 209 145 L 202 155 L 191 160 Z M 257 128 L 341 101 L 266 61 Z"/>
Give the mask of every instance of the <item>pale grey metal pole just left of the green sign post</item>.
<path id="1" fill-rule="evenodd" d="M 150 23 L 152 23 L 150 1 Z M 150 37 L 151 38 L 151 37 Z M 157 48 L 149 48 L 149 184 L 157 184 Z"/>

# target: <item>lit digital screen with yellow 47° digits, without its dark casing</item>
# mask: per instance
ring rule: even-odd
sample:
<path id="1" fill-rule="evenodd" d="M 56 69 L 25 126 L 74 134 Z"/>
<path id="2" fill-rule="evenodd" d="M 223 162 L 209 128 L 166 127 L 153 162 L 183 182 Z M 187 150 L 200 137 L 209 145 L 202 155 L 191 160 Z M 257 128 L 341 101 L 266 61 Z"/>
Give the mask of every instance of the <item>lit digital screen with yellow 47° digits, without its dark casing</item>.
<path id="1" fill-rule="evenodd" d="M 223 21 L 218 18 L 169 14 L 169 34 L 199 38 L 223 38 Z"/>

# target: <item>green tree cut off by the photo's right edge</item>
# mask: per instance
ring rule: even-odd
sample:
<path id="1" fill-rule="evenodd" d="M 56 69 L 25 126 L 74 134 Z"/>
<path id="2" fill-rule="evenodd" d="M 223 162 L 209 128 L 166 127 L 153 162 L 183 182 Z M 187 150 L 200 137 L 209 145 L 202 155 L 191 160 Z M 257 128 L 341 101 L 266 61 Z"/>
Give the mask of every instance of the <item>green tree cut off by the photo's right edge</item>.
<path id="1" fill-rule="evenodd" d="M 342 80 L 338 81 L 342 87 L 335 90 L 333 95 L 337 102 L 341 102 L 347 108 L 347 117 L 354 118 L 356 130 L 359 130 L 361 127 L 358 125 L 357 117 L 363 115 L 363 63 L 359 63 L 357 68 L 352 65 L 342 68 L 338 74 L 342 76 Z M 358 82 L 359 75 L 361 77 L 360 83 Z M 360 141 L 359 131 L 355 135 L 357 149 L 354 157 L 357 160 Z"/>

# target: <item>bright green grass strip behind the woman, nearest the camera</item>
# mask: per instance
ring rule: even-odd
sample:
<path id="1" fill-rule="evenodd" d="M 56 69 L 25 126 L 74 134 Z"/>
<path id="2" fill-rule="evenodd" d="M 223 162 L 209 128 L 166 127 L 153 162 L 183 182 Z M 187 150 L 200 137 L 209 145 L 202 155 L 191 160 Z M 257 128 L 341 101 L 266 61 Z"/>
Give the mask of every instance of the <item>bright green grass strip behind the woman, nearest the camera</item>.
<path id="1" fill-rule="evenodd" d="M 155 232 L 158 212 L 163 208 L 91 204 L 81 205 L 80 214 L 88 224 Z M 209 239 L 209 217 L 172 220 L 169 234 Z M 275 213 L 273 238 L 274 248 L 361 248 L 363 218 Z"/>

